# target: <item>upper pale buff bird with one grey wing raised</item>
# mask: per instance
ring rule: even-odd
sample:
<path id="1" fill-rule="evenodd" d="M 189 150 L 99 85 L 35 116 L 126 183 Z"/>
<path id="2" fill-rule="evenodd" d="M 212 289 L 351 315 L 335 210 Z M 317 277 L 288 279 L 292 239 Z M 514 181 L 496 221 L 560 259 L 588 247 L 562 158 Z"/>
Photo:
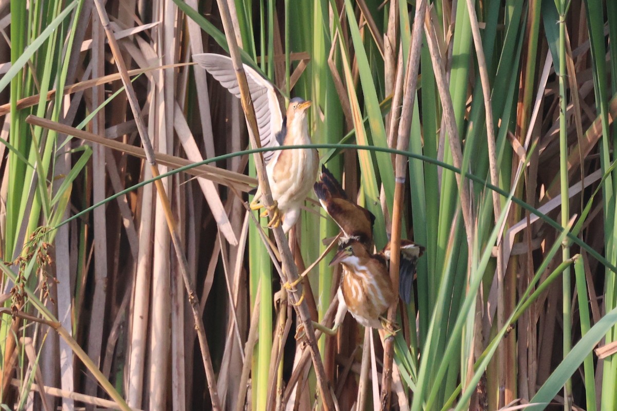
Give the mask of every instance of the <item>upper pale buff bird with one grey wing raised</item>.
<path id="1" fill-rule="evenodd" d="M 220 81 L 231 94 L 240 97 L 236 71 L 231 59 L 220 54 L 196 54 L 193 60 Z M 311 102 L 295 97 L 289 101 L 286 116 L 281 110 L 281 95 L 276 87 L 257 71 L 244 65 L 255 116 L 259 125 L 262 147 L 279 145 L 311 144 L 307 108 Z M 315 178 L 319 157 L 315 149 L 276 150 L 263 153 L 266 163 L 268 183 L 274 204 L 268 227 L 278 227 L 283 223 L 283 231 L 288 232 L 300 216 L 302 201 L 310 192 Z M 260 202 L 261 187 L 257 189 L 251 202 L 252 210 L 263 208 Z M 265 212 L 262 216 L 266 216 Z"/>

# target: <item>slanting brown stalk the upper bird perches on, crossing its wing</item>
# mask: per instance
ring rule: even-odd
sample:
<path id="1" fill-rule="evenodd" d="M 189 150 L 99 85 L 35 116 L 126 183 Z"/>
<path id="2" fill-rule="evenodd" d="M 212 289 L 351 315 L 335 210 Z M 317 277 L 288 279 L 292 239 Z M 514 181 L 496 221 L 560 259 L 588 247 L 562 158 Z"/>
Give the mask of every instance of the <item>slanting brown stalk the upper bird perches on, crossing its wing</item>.
<path id="1" fill-rule="evenodd" d="M 231 22 L 230 9 L 225 0 L 217 0 L 218 8 L 223 23 L 223 29 L 225 30 L 225 36 L 230 50 L 231 60 L 233 62 L 234 70 L 236 70 L 236 76 L 238 78 L 238 87 L 241 95 L 242 110 L 246 116 L 247 123 L 249 124 L 250 131 L 249 137 L 251 139 L 251 145 L 253 147 L 261 147 L 259 140 L 259 128 L 257 127 L 257 120 L 255 118 L 255 109 L 251 100 L 251 92 L 249 91 L 249 85 L 246 80 L 246 74 L 242 67 L 242 61 L 240 59 L 240 52 L 238 49 L 238 43 L 236 42 L 236 36 L 234 36 L 233 23 Z M 265 173 L 265 166 L 263 165 L 262 153 L 255 153 L 255 169 L 257 170 L 257 177 L 259 179 L 259 186 L 262 190 L 262 202 L 267 208 L 273 205 L 272 195 L 270 192 L 270 185 Z M 270 211 L 271 213 L 271 211 Z M 270 218 L 272 215 L 270 214 Z M 294 282 L 297 280 L 298 272 L 296 264 L 294 264 L 294 258 L 289 250 L 287 239 L 283 234 L 283 229 L 279 226 L 274 230 L 274 237 L 276 240 L 276 246 L 281 255 L 281 262 L 283 263 L 283 274 L 281 280 L 283 282 Z M 317 376 L 317 385 L 320 391 L 321 399 L 323 401 L 324 409 L 326 411 L 334 411 L 334 402 L 331 397 L 330 390 L 328 388 L 328 380 L 326 378 L 326 372 L 321 361 L 319 349 L 317 347 L 317 340 L 315 339 L 315 330 L 313 329 L 312 320 L 310 317 L 309 306 L 306 301 L 302 299 L 302 286 L 296 288 L 296 291 L 289 290 L 289 299 L 294 306 L 296 306 L 297 314 L 302 319 L 302 325 L 306 333 L 307 344 L 309 345 L 310 355 L 315 366 L 315 375 Z M 296 305 L 299 304 L 299 305 Z"/>

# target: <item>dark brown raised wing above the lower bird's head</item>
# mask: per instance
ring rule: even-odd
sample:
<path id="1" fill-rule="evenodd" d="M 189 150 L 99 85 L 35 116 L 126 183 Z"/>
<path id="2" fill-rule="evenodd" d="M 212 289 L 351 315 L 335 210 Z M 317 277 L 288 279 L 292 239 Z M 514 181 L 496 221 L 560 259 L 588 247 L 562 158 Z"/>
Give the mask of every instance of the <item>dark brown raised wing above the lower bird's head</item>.
<path id="1" fill-rule="evenodd" d="M 320 181 L 313 185 L 315 194 L 326 213 L 341 228 L 341 243 L 350 238 L 361 242 L 366 250 L 373 250 L 373 224 L 375 216 L 347 198 L 341 184 L 332 173 L 321 166 Z"/>

